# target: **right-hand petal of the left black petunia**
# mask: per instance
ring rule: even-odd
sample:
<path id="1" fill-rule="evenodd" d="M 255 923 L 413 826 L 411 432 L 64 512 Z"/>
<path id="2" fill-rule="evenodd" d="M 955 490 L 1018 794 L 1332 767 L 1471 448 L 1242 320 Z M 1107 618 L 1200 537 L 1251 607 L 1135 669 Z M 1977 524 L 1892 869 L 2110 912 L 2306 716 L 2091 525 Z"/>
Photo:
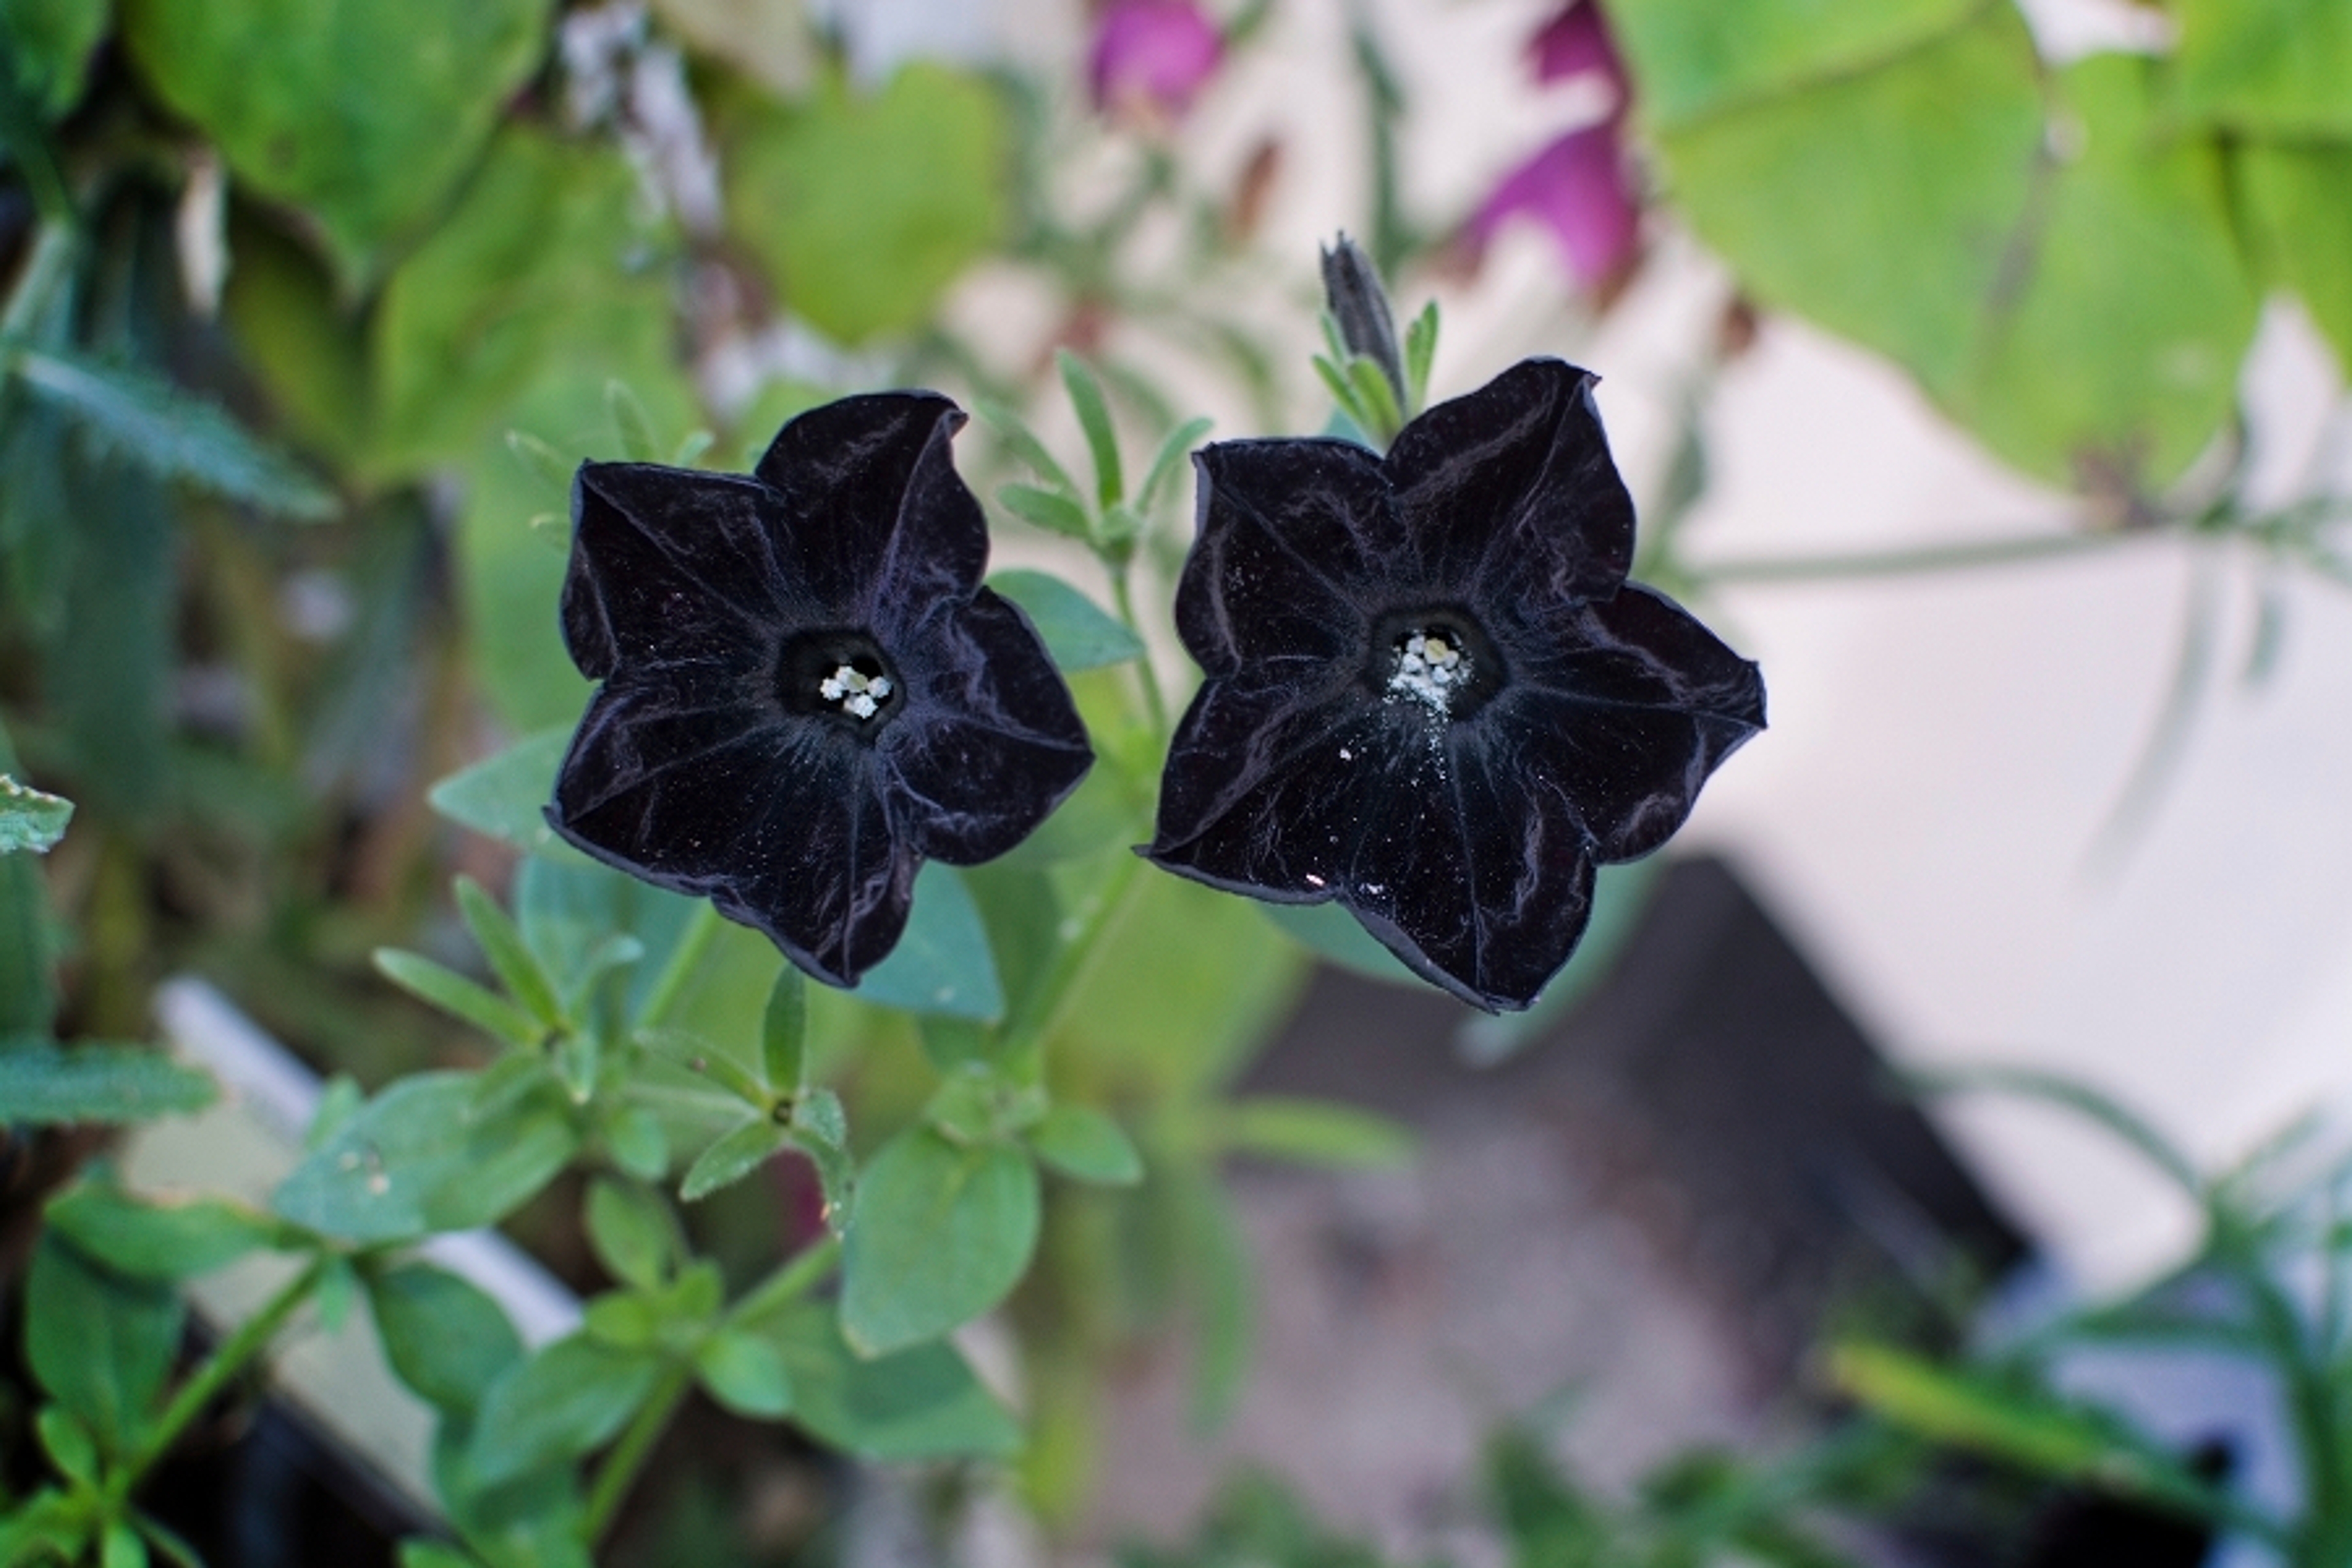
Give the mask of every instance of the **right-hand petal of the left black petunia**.
<path id="1" fill-rule="evenodd" d="M 903 670 L 908 708 L 877 750 L 934 860 L 1002 856 L 1087 776 L 1087 726 L 1011 599 L 983 588 Z"/>

